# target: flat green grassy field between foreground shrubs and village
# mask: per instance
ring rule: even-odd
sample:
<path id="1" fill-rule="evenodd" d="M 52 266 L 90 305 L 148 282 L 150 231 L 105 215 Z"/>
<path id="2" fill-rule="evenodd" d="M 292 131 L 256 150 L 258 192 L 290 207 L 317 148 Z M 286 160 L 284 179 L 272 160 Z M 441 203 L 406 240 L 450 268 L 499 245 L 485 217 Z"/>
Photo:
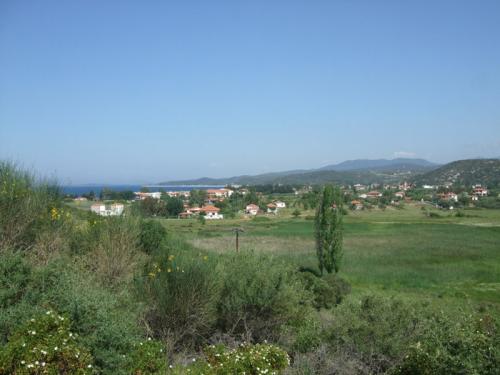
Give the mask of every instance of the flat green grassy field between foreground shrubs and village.
<path id="1" fill-rule="evenodd" d="M 240 227 L 245 231 L 240 251 L 271 252 L 297 266 L 316 266 L 312 214 L 205 225 L 195 220 L 163 221 L 170 231 L 205 250 L 235 251 L 232 228 Z M 349 212 L 341 276 L 352 284 L 353 293 L 377 290 L 444 304 L 472 302 L 500 312 L 500 211 L 439 215 L 427 217 L 417 205 Z"/>

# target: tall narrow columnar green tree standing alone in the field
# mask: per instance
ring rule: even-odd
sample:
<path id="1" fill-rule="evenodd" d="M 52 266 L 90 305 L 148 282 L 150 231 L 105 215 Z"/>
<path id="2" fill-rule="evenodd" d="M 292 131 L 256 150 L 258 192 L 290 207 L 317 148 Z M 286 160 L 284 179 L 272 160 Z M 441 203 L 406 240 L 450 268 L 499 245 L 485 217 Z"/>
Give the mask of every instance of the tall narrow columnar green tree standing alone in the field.
<path id="1" fill-rule="evenodd" d="M 320 194 L 315 218 L 316 253 L 321 274 L 338 272 L 342 259 L 342 194 L 326 185 Z"/>

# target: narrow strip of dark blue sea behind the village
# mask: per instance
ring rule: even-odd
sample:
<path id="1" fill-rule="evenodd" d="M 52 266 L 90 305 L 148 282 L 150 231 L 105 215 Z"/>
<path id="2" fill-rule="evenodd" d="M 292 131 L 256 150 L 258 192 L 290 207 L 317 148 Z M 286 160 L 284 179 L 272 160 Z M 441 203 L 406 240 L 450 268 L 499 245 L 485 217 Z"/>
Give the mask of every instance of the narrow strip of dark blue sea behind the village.
<path id="1" fill-rule="evenodd" d="M 89 194 L 91 191 L 95 195 L 99 195 L 103 189 L 113 191 L 140 191 L 143 187 L 147 187 L 150 192 L 154 191 L 191 191 L 218 189 L 223 185 L 65 185 L 62 186 L 64 194 L 77 195 Z"/>

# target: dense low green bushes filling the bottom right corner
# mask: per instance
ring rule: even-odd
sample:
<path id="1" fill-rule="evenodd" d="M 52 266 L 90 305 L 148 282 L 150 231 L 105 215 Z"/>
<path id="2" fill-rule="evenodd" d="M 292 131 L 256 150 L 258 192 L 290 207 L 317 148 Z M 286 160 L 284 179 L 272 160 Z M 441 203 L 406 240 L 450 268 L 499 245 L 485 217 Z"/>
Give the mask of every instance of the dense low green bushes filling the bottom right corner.
<path id="1" fill-rule="evenodd" d="M 438 313 L 374 295 L 333 312 L 327 342 L 338 368 L 354 364 L 363 373 L 396 374 L 492 374 L 500 368 L 498 328 L 490 317 Z"/>

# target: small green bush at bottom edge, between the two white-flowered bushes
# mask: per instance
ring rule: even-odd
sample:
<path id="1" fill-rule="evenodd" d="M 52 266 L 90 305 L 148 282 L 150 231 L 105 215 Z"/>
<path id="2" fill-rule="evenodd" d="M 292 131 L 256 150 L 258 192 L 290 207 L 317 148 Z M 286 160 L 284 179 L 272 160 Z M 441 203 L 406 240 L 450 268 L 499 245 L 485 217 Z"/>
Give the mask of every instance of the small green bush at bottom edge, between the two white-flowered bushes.
<path id="1" fill-rule="evenodd" d="M 134 375 L 164 374 L 167 361 L 163 344 L 148 338 L 134 345 L 128 355 L 127 373 Z"/>

